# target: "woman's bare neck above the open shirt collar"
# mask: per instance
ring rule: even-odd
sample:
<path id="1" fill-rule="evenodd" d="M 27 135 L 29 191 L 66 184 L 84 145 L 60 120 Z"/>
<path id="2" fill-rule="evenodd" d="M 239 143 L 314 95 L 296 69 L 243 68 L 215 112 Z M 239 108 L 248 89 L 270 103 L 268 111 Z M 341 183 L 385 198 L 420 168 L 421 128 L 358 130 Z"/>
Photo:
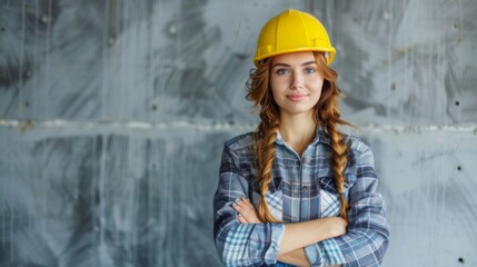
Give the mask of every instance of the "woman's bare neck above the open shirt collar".
<path id="1" fill-rule="evenodd" d="M 301 155 L 316 135 L 317 123 L 312 119 L 312 113 L 281 115 L 280 117 L 281 137 Z"/>

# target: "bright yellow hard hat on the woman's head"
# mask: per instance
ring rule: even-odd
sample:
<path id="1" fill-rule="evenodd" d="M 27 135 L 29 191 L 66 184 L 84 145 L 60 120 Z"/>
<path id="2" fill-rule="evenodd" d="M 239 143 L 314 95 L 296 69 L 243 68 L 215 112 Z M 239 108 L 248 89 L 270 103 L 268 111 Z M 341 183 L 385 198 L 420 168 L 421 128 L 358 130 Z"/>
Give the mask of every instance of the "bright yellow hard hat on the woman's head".
<path id="1" fill-rule="evenodd" d="M 289 9 L 271 18 L 261 29 L 254 63 L 258 67 L 262 59 L 300 51 L 322 51 L 328 65 L 336 55 L 325 27 L 317 18 Z"/>

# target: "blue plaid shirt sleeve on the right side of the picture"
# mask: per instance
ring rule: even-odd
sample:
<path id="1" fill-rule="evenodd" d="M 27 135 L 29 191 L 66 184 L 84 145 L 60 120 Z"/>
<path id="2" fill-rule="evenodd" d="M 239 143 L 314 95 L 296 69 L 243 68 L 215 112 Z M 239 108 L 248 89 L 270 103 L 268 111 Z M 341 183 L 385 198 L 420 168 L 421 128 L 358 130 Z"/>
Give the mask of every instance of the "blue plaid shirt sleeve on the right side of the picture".
<path id="1" fill-rule="evenodd" d="M 389 239 L 389 224 L 369 147 L 358 156 L 356 182 L 349 189 L 347 234 L 305 248 L 311 266 L 379 266 Z"/>

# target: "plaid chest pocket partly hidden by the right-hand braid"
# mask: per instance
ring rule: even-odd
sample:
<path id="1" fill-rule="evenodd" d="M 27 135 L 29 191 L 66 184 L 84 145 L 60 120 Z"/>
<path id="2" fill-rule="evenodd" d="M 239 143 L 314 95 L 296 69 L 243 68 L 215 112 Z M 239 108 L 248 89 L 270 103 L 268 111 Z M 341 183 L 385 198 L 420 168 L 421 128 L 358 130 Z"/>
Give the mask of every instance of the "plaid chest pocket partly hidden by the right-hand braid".
<path id="1" fill-rule="evenodd" d="M 349 189 L 355 185 L 356 175 L 347 174 L 344 186 L 344 194 L 346 200 L 349 202 Z M 340 202 L 339 194 L 335 187 L 335 177 L 321 177 L 320 184 L 320 217 L 335 217 L 339 216 Z"/>

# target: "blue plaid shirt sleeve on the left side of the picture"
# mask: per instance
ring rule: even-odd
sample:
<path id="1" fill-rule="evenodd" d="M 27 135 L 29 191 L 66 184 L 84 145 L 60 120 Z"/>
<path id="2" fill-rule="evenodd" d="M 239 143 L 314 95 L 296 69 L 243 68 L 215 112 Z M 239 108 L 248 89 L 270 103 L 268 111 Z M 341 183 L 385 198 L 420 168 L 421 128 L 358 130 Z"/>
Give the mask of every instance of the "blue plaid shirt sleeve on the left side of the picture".
<path id="1" fill-rule="evenodd" d="M 231 205 L 236 198 L 249 197 L 249 182 L 239 175 L 238 166 L 237 155 L 226 146 L 219 184 L 213 196 L 213 237 L 217 250 L 226 266 L 276 264 L 285 225 L 242 225 L 238 221 L 237 211 Z"/>

